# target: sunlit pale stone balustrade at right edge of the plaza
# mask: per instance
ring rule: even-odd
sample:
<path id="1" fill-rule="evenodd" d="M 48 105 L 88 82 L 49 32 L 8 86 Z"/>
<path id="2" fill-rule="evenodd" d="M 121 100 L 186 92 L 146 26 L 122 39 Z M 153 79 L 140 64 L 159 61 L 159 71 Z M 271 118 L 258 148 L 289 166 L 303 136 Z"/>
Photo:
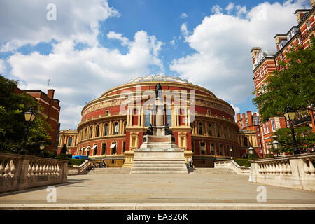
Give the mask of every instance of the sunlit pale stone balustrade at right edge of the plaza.
<path id="1" fill-rule="evenodd" d="M 315 191 L 315 153 L 250 162 L 253 183 Z"/>

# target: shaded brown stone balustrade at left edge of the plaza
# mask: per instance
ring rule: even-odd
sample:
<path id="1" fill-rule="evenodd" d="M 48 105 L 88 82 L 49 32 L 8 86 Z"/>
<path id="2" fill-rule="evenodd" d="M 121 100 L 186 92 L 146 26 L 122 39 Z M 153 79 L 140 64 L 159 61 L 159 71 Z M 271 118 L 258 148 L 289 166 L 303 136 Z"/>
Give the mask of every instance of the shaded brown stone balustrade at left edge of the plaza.
<path id="1" fill-rule="evenodd" d="M 67 160 L 0 153 L 0 193 L 67 181 Z"/>

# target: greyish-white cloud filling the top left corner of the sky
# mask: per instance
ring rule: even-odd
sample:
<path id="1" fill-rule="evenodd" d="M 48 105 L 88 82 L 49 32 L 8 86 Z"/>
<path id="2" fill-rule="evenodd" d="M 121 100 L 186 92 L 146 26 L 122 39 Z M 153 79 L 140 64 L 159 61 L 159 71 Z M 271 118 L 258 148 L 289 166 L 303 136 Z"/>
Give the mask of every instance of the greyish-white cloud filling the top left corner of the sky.
<path id="1" fill-rule="evenodd" d="M 1 1 L 0 51 L 16 50 L 28 43 L 67 39 L 98 45 L 99 22 L 119 16 L 105 0 L 55 0 L 57 20 L 49 21 L 46 18 L 48 3 L 51 1 Z"/>

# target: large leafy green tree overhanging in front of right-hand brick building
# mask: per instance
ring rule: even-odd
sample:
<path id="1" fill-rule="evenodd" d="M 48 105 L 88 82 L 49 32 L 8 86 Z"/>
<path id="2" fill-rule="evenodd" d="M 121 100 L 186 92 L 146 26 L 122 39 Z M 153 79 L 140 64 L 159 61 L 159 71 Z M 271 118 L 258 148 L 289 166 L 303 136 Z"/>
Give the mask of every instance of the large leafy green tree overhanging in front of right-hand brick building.
<path id="1" fill-rule="evenodd" d="M 262 122 L 282 114 L 287 104 L 297 111 L 314 111 L 315 105 L 315 50 L 314 38 L 309 48 L 292 50 L 286 54 L 288 63 L 280 62 L 276 70 L 258 89 L 253 104 L 259 109 Z M 253 92 L 255 94 L 255 92 Z"/>

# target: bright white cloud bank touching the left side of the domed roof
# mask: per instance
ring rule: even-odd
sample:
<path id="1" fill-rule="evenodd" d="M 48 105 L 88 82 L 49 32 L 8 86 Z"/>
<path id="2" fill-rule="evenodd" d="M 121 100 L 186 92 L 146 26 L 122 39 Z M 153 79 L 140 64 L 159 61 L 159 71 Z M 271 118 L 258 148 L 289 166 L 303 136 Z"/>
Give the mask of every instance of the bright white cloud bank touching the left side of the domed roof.
<path id="1" fill-rule="evenodd" d="M 145 31 L 134 34 L 133 41 L 113 32 L 109 36 L 121 39 L 129 51 L 123 55 L 117 49 L 97 46 L 75 50 L 74 41 L 66 40 L 52 44 L 49 55 L 13 54 L 7 59 L 12 67 L 10 73 L 22 80 L 22 89 L 46 90 L 50 79 L 50 87 L 55 89 L 62 107 L 61 129 L 76 128 L 73 124 L 80 121 L 80 109 L 85 102 L 134 77 L 148 75 L 151 66 L 158 71 L 164 69 L 158 58 L 162 42 L 155 36 L 148 36 Z"/>

